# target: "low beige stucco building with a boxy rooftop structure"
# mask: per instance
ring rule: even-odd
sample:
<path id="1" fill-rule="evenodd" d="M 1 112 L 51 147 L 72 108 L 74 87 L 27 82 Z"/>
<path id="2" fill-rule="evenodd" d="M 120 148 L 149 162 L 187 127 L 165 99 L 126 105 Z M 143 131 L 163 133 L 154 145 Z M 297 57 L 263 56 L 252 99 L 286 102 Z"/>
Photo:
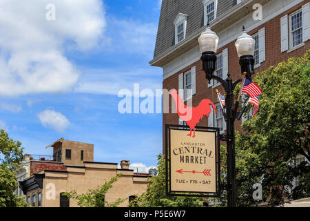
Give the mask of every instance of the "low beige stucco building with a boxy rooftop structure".
<path id="1" fill-rule="evenodd" d="M 107 192 L 105 202 L 112 203 L 121 198 L 126 200 L 120 206 L 127 206 L 134 195 L 146 191 L 147 175 L 134 173 L 129 169 L 130 162 L 127 160 L 121 161 L 121 169 L 118 169 L 117 163 L 94 162 L 92 144 L 61 139 L 50 146 L 54 148 L 53 162 L 36 162 L 33 165 L 41 171 L 32 169 L 39 172 L 20 182 L 26 200 L 32 206 L 78 206 L 76 200 L 68 200 L 61 193 L 72 190 L 86 193 L 118 174 L 121 174 L 121 178 Z M 55 167 L 54 164 L 60 164 L 61 167 Z"/>

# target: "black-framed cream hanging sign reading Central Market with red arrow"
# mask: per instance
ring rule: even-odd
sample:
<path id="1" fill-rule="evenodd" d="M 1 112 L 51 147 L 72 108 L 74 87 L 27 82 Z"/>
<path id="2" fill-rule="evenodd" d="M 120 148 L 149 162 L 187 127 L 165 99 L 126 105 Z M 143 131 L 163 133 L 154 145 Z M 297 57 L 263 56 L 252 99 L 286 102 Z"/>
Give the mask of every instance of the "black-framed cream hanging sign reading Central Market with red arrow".
<path id="1" fill-rule="evenodd" d="M 166 193 L 218 197 L 219 129 L 196 126 L 195 137 L 188 129 L 166 125 Z"/>

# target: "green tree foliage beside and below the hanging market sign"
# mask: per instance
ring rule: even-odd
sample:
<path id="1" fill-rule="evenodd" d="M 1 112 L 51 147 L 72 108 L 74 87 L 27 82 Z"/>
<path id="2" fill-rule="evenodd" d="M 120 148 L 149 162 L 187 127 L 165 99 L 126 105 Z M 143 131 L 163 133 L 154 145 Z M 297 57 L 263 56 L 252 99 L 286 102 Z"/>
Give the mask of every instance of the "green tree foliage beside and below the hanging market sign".
<path id="1" fill-rule="evenodd" d="M 202 198 L 167 197 L 165 193 L 165 157 L 158 155 L 158 175 L 148 178 L 147 191 L 130 202 L 132 207 L 197 207 Z"/>

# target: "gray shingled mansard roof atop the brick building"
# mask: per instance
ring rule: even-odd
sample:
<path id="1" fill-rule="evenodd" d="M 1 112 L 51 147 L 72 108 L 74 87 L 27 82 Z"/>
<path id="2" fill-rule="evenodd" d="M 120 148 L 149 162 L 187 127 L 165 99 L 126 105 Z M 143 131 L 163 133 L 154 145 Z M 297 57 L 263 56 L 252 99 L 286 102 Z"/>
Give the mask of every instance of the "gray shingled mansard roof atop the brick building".
<path id="1" fill-rule="evenodd" d="M 236 6 L 237 0 L 218 0 L 216 17 Z M 203 27 L 203 0 L 163 0 L 158 23 L 154 59 L 164 50 L 174 46 L 174 19 L 178 13 L 188 15 L 186 35 L 189 36 Z"/>

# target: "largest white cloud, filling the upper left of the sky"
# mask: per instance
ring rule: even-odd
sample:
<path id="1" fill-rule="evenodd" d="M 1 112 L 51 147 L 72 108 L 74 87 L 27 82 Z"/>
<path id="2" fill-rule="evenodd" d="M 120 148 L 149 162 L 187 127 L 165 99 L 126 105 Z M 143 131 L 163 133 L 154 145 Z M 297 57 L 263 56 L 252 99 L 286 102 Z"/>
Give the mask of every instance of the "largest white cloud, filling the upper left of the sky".
<path id="1" fill-rule="evenodd" d="M 53 3 L 56 20 L 45 7 Z M 105 30 L 101 0 L 0 1 L 0 95 L 70 90 L 79 71 L 66 50 L 90 50 Z"/>

